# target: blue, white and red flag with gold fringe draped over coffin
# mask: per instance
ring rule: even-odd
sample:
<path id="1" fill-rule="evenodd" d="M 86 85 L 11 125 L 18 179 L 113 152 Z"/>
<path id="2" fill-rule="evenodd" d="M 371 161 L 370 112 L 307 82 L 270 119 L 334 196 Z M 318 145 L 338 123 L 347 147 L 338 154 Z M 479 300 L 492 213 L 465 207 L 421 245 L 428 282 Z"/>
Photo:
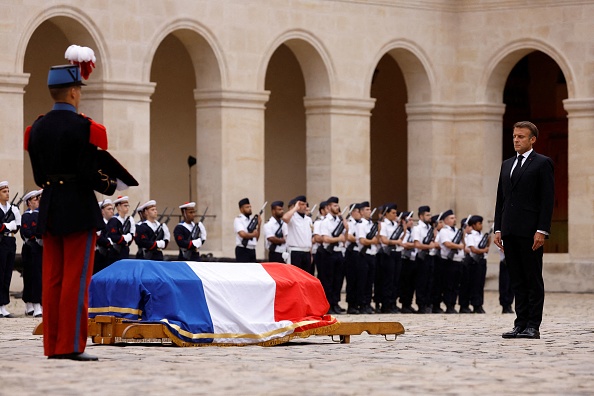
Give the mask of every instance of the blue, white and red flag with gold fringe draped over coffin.
<path id="1" fill-rule="evenodd" d="M 160 322 L 185 343 L 272 345 L 338 325 L 318 279 L 287 264 L 121 260 L 93 276 L 89 317 Z"/>

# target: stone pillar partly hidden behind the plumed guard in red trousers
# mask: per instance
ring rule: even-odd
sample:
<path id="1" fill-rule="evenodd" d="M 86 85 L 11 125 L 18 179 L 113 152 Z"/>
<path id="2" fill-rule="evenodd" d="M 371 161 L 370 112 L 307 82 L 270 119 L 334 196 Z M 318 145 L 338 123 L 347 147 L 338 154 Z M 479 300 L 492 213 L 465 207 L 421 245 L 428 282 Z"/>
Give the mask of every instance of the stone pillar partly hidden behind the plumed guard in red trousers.
<path id="1" fill-rule="evenodd" d="M 155 83 L 106 81 L 83 88 L 79 111 L 105 125 L 109 152 L 138 180 L 139 186 L 116 194 L 130 204 L 150 195 L 150 102 Z"/>

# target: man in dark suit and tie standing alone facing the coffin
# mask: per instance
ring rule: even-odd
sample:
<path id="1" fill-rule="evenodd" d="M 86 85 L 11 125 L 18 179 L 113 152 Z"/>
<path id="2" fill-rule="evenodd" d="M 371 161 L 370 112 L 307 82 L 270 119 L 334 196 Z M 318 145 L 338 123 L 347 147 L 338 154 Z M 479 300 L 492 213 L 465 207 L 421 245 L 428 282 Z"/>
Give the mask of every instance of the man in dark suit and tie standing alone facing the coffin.
<path id="1" fill-rule="evenodd" d="M 503 338 L 540 338 L 544 305 L 542 255 L 553 215 L 554 165 L 532 146 L 538 128 L 531 122 L 514 125 L 517 156 L 501 165 L 495 205 L 495 245 L 504 250 L 516 295 L 516 320 Z"/>

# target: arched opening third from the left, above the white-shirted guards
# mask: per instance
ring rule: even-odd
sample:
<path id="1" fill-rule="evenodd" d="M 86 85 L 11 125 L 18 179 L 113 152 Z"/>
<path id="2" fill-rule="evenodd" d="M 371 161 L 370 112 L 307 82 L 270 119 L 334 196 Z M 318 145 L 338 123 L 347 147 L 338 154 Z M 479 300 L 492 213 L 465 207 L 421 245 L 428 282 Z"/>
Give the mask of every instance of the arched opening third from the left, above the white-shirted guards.
<path id="1" fill-rule="evenodd" d="M 305 81 L 295 54 L 282 44 L 270 58 L 265 89 L 265 197 L 289 200 L 306 192 Z"/>

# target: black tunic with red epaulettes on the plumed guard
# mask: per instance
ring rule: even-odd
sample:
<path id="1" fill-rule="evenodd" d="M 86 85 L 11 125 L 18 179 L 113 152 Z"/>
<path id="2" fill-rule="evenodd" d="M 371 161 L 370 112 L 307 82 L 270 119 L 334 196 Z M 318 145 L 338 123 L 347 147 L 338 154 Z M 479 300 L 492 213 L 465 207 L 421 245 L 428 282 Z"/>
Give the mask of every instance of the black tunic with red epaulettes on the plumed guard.
<path id="1" fill-rule="evenodd" d="M 98 172 L 97 146 L 91 142 L 104 142 L 106 149 L 107 135 L 103 126 L 91 132 L 92 124 L 73 111 L 52 110 L 25 132 L 35 183 L 43 188 L 41 233 L 66 235 L 105 227 L 93 190 L 111 195 L 116 184 Z"/>

